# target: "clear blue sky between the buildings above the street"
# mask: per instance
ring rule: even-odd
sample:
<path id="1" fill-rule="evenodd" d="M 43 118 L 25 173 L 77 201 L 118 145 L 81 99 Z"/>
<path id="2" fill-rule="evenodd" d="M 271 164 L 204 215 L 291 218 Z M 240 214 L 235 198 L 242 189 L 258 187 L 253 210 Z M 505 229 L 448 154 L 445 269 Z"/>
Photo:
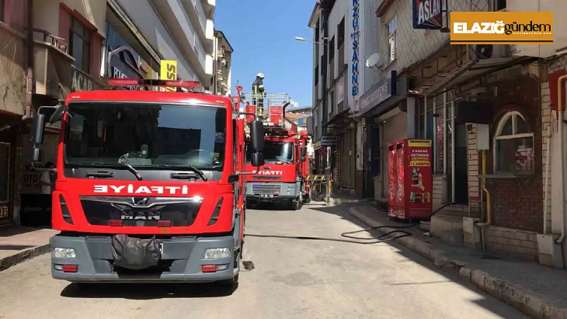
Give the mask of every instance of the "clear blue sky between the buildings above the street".
<path id="1" fill-rule="evenodd" d="M 232 53 L 232 90 L 238 81 L 251 92 L 264 73 L 268 93 L 288 93 L 299 106 L 312 104 L 312 39 L 307 26 L 315 0 L 217 0 L 215 29 L 225 33 Z"/>

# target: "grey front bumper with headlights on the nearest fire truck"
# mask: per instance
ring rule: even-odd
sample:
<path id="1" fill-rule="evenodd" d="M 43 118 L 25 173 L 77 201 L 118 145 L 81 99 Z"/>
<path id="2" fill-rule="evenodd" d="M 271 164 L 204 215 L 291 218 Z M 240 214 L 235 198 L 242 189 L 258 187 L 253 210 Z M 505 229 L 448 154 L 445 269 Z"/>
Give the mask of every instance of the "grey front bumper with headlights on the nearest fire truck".
<path id="1" fill-rule="evenodd" d="M 51 274 L 69 282 L 215 282 L 238 275 L 233 236 L 159 239 L 157 266 L 142 270 L 114 265 L 112 236 L 51 237 Z"/>

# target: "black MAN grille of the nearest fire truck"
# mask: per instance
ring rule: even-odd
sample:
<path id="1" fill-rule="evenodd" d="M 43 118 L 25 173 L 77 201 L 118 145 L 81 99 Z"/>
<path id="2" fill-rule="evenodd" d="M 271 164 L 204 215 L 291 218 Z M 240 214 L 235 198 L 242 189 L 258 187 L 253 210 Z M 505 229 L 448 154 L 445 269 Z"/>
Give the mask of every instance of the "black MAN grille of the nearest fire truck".
<path id="1" fill-rule="evenodd" d="M 200 201 L 185 198 L 81 197 L 84 216 L 91 225 L 108 226 L 122 220 L 123 226 L 158 226 L 159 220 L 171 226 L 191 226 L 201 207 Z"/>

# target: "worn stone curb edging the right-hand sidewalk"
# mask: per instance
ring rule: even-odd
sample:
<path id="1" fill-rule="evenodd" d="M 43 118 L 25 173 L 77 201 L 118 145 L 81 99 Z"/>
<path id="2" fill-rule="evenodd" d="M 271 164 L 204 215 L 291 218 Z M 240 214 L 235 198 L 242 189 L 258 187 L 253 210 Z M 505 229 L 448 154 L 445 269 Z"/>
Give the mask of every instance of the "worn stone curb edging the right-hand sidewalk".
<path id="1" fill-rule="evenodd" d="M 350 207 L 349 214 L 361 220 L 370 227 L 383 226 L 383 224 L 361 214 L 355 207 Z M 395 231 L 396 229 L 384 227 L 384 232 Z M 482 270 L 469 269 L 466 263 L 458 260 L 451 260 L 441 249 L 434 248 L 425 241 L 416 239 L 413 236 L 401 237 L 397 242 L 428 258 L 433 262 L 437 269 L 443 271 L 456 271 L 459 279 L 464 282 L 472 283 L 473 286 L 480 288 L 490 296 L 510 305 L 511 307 L 531 316 L 535 319 L 567 319 L 567 309 L 554 307 L 539 297 L 532 295 L 528 291 L 523 291 L 511 286 L 501 279 L 492 277 Z"/>

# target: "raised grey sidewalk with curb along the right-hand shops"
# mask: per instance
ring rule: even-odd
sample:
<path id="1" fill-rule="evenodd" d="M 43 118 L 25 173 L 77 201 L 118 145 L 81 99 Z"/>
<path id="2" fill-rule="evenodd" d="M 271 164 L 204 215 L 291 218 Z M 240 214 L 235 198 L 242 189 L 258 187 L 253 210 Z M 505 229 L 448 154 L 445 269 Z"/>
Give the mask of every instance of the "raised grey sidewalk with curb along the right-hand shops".
<path id="1" fill-rule="evenodd" d="M 370 227 L 407 226 L 387 219 L 370 205 L 350 206 L 349 213 Z M 380 232 L 393 231 L 381 228 Z M 533 262 L 507 260 L 488 253 L 445 245 L 417 227 L 399 243 L 428 258 L 438 269 L 458 271 L 459 278 L 538 319 L 567 319 L 567 271 Z"/>

